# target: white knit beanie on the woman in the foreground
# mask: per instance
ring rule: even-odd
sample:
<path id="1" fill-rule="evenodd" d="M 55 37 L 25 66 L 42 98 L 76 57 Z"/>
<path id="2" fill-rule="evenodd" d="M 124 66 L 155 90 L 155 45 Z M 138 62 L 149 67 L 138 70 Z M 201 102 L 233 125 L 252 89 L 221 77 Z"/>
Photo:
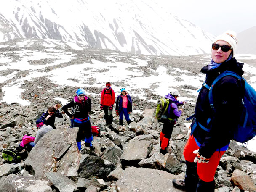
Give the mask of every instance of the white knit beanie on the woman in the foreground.
<path id="1" fill-rule="evenodd" d="M 213 43 L 215 43 L 218 40 L 223 40 L 229 43 L 229 45 L 231 45 L 232 49 L 233 49 L 233 57 L 235 55 L 235 53 L 237 52 L 237 34 L 234 31 L 226 31 L 223 34 L 220 34 L 219 36 L 217 36 Z"/>

